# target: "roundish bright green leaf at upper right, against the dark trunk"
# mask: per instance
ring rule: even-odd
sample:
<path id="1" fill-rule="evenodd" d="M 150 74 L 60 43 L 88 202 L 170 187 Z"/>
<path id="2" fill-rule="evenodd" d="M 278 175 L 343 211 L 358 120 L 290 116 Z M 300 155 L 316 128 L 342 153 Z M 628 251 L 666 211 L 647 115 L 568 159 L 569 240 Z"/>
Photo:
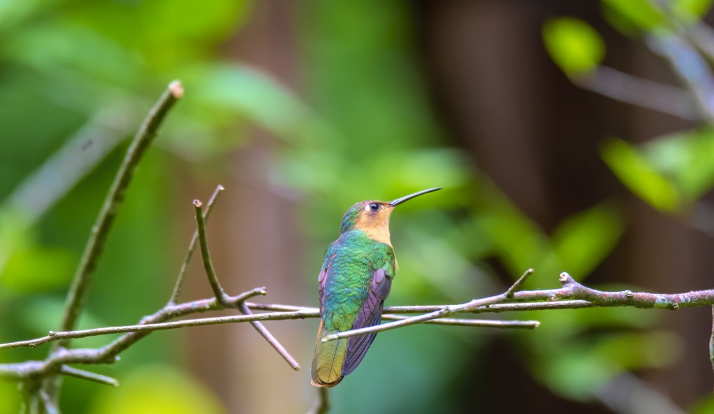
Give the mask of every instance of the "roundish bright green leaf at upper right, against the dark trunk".
<path id="1" fill-rule="evenodd" d="M 595 29 L 580 19 L 558 17 L 543 26 L 545 49 L 568 76 L 592 72 L 605 56 L 605 43 Z"/>

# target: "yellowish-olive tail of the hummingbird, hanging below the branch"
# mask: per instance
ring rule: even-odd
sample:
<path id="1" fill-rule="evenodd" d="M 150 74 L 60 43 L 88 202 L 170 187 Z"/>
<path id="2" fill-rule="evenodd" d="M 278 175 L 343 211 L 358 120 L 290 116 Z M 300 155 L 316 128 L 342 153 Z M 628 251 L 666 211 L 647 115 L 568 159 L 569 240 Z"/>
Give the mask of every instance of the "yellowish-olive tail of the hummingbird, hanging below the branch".
<path id="1" fill-rule="evenodd" d="M 322 320 L 317 332 L 317 343 L 312 365 L 312 385 L 316 387 L 334 387 L 343 378 L 342 367 L 347 353 L 347 338 L 322 342 L 323 337 L 336 333 L 325 329 Z"/>

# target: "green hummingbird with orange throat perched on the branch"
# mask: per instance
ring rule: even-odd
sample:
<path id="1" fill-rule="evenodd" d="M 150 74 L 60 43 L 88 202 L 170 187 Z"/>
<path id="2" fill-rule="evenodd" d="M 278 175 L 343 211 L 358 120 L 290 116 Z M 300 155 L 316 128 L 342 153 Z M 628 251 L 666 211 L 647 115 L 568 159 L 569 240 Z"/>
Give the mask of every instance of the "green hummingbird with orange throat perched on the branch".
<path id="1" fill-rule="evenodd" d="M 389 217 L 399 204 L 439 189 L 424 189 L 391 202 L 358 202 L 342 217 L 340 237 L 327 248 L 318 276 L 321 318 L 312 385 L 334 387 L 361 363 L 376 332 L 322 340 L 337 332 L 381 323 L 384 300 L 397 270 Z"/>

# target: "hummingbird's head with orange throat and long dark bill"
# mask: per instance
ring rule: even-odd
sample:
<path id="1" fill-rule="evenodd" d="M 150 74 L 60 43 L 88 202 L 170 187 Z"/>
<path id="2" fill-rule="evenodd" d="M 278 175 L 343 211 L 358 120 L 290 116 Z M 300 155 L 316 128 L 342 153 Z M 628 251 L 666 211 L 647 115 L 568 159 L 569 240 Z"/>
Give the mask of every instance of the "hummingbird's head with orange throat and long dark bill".
<path id="1" fill-rule="evenodd" d="M 424 189 L 404 197 L 399 197 L 391 202 L 377 200 L 358 202 L 350 207 L 344 217 L 342 217 L 340 233 L 350 230 L 362 230 L 372 238 L 391 245 L 389 242 L 389 217 L 392 215 L 394 207 L 406 202 L 408 199 L 413 199 L 421 194 L 439 189 L 441 188 Z"/>

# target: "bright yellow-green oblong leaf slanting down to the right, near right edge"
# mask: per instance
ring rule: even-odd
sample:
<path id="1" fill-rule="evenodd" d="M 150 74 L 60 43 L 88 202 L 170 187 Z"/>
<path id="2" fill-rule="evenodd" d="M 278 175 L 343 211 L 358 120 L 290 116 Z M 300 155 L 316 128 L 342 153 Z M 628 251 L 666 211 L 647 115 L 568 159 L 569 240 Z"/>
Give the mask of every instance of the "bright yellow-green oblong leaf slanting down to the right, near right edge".
<path id="1" fill-rule="evenodd" d="M 678 188 L 666 179 L 648 159 L 622 139 L 603 144 L 600 156 L 626 187 L 658 210 L 674 212 L 682 199 Z"/>

